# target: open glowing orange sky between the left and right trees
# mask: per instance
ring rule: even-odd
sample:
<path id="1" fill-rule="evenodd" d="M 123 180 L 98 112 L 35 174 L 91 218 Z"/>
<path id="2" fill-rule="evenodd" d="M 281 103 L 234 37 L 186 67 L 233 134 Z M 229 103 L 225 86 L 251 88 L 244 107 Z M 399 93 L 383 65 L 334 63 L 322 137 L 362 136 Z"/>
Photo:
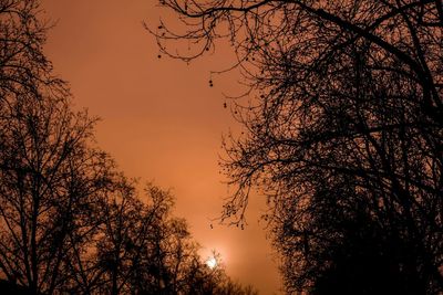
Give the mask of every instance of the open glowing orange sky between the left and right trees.
<path id="1" fill-rule="evenodd" d="M 223 93 L 238 94 L 238 86 L 231 73 L 213 76 L 214 87 L 208 80 L 209 71 L 231 62 L 229 51 L 189 65 L 157 59 L 155 40 L 142 27 L 142 21 L 158 23 L 156 2 L 43 0 L 45 17 L 58 20 L 47 54 L 70 82 L 75 105 L 103 119 L 99 145 L 120 168 L 173 189 L 176 215 L 188 220 L 202 254 L 215 249 L 233 278 L 254 284 L 261 294 L 277 294 L 277 264 L 265 224 L 257 222 L 264 206 L 251 201 L 244 231 L 209 226 L 228 193 L 217 166 L 222 135 L 238 128 L 223 107 Z"/>

